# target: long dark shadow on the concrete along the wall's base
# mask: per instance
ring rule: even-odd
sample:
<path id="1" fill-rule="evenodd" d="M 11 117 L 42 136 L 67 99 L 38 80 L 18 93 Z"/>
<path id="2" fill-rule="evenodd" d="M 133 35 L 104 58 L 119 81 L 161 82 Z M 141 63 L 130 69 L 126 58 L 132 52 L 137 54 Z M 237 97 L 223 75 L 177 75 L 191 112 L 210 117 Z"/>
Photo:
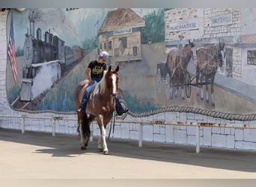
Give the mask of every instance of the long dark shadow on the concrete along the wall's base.
<path id="1" fill-rule="evenodd" d="M 0 141 L 10 141 L 20 144 L 31 144 L 46 147 L 34 150 L 34 154 L 50 154 L 55 157 L 86 156 L 88 154 L 103 154 L 97 152 L 97 137 L 90 141 L 87 150 L 80 150 L 79 135 L 25 132 L 13 129 L 0 129 Z M 110 138 L 107 141 L 110 156 L 121 156 L 132 159 L 148 159 L 159 162 L 172 162 L 183 165 L 197 165 L 207 168 L 220 168 L 234 171 L 256 172 L 256 152 L 242 150 L 223 150 L 201 147 L 201 153 L 195 153 L 194 146 L 177 144 L 162 144 L 143 142 L 138 147 L 138 141 Z"/>

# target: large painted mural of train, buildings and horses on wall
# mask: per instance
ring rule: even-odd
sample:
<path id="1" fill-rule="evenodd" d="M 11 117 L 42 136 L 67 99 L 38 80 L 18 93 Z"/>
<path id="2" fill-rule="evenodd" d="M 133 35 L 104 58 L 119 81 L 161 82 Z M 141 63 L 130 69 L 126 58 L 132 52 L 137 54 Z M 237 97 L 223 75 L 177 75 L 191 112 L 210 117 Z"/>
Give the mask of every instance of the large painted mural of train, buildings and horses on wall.
<path id="1" fill-rule="evenodd" d="M 104 50 L 107 64 L 120 66 L 119 94 L 133 114 L 176 106 L 255 114 L 256 29 L 249 27 L 255 13 L 250 8 L 11 10 L 8 101 L 28 112 L 73 112 L 76 85 Z"/>

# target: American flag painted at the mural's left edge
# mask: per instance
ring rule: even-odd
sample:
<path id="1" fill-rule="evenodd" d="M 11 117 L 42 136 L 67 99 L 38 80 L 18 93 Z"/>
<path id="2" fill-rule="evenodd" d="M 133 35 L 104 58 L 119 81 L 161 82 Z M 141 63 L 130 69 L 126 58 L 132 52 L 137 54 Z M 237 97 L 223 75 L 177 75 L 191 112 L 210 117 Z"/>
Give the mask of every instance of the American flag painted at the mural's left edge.
<path id="1" fill-rule="evenodd" d="M 10 68 L 13 73 L 13 83 L 16 85 L 17 80 L 17 63 L 15 55 L 15 41 L 14 41 L 14 30 L 13 30 L 13 14 L 11 14 L 10 20 L 10 35 L 8 43 L 8 57 L 10 58 Z"/>

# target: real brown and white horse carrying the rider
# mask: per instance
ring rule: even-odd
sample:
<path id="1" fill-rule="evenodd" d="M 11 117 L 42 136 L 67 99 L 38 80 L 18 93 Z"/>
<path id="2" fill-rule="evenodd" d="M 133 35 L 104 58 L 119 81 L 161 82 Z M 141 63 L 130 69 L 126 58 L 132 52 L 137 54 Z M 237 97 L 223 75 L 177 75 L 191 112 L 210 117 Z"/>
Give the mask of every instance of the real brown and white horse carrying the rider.
<path id="1" fill-rule="evenodd" d="M 106 126 L 112 119 L 115 111 L 115 95 L 118 93 L 118 70 L 109 67 L 104 73 L 103 79 L 97 83 L 89 96 L 85 113 L 78 114 L 78 131 L 81 137 L 81 150 L 86 150 L 90 138 L 90 124 L 96 119 L 100 128 L 100 138 L 98 140 L 97 150 L 103 151 L 105 155 L 109 154 L 106 144 Z M 75 108 L 79 108 L 82 96 L 85 91 L 85 81 L 80 82 L 75 91 Z M 89 114 L 89 117 L 88 117 Z"/>

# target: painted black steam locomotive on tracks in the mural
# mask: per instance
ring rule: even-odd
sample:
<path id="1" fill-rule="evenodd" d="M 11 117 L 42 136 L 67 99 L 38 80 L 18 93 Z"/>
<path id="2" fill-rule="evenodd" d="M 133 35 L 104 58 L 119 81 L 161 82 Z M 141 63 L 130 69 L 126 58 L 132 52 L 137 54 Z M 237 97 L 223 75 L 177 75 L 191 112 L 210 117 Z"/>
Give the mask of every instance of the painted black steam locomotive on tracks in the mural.
<path id="1" fill-rule="evenodd" d="M 81 61 L 85 56 L 84 49 L 79 47 L 65 46 L 64 40 L 54 36 L 50 31 L 44 33 L 37 28 L 34 37 L 34 21 L 30 20 L 30 34 L 25 34 L 24 42 L 24 67 L 22 69 L 22 86 L 19 98 L 22 101 L 31 100 L 31 87 L 33 79 L 37 76 L 40 68 L 50 66 L 55 75 L 51 75 L 56 81 L 74 64 Z"/>

